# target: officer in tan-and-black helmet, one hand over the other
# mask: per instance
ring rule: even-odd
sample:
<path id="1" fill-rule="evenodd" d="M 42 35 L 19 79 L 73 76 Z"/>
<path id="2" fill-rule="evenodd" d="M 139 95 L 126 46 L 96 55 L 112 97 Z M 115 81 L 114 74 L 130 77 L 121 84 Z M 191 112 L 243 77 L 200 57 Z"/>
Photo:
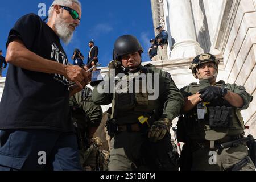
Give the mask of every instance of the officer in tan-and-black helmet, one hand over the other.
<path id="1" fill-rule="evenodd" d="M 244 138 L 245 123 L 240 112 L 249 107 L 253 97 L 243 86 L 216 82 L 219 63 L 210 53 L 196 56 L 190 69 L 199 84 L 181 89 L 185 97 L 184 117 L 177 125 L 178 139 L 185 143 L 181 169 L 255 169 L 245 143 L 221 148 L 226 142 Z"/>

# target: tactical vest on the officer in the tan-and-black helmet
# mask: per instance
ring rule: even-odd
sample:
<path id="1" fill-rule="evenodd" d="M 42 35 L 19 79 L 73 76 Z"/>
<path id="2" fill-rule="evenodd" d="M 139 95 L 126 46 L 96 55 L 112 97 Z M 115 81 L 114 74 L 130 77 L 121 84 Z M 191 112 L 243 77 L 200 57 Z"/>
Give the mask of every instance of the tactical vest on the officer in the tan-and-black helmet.
<path id="1" fill-rule="evenodd" d="M 220 81 L 217 82 L 215 86 L 221 87 L 224 86 L 225 82 Z M 230 84 L 225 84 L 226 88 L 233 92 Z M 199 85 L 196 83 L 192 83 L 188 86 L 189 93 L 196 94 L 200 89 L 203 89 L 207 86 Z M 208 119 L 197 119 L 197 107 L 191 110 L 188 114 L 185 114 L 185 132 L 189 136 L 189 138 L 193 140 L 209 140 L 209 141 L 216 141 L 224 138 L 225 136 L 233 136 L 244 134 L 243 130 L 245 129 L 245 125 L 240 113 L 239 109 L 231 106 L 227 101 L 222 98 L 218 98 L 217 100 L 213 101 L 213 103 L 209 103 L 207 109 L 209 111 L 210 106 L 229 106 L 231 107 L 230 110 L 230 125 L 228 128 L 210 128 L 209 125 L 209 115 L 207 116 Z M 208 120 L 208 121 L 207 121 Z"/>

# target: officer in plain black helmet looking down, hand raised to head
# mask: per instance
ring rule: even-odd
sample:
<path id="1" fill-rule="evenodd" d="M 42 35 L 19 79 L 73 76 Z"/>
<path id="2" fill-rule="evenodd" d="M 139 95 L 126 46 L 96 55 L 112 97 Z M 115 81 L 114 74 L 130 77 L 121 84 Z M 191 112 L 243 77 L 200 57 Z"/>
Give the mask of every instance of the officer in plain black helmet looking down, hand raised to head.
<path id="1" fill-rule="evenodd" d="M 115 76 L 123 73 L 115 81 L 115 90 L 118 92 L 100 93 L 98 88 L 102 85 L 93 90 L 94 102 L 100 105 L 112 103 L 112 116 L 107 124 L 108 133 L 113 137 L 110 144 L 110 171 L 177 170 L 170 127 L 172 119 L 179 114 L 184 104 L 183 96 L 170 73 L 152 64 L 142 66 L 142 53 L 143 48 L 137 38 L 132 35 L 119 37 L 114 44 L 114 61 L 109 63 L 109 69 L 114 69 Z M 156 98 L 150 99 L 148 90 L 143 93 L 142 84 L 137 86 L 139 93 L 134 92 L 136 86 L 133 92 L 127 92 L 130 85 L 122 89 L 117 86 L 123 83 L 126 85 L 127 82 L 130 84 L 131 80 L 149 73 L 153 75 L 151 81 L 158 83 L 159 94 Z M 155 78 L 155 74 L 159 77 Z M 108 79 L 109 76 L 105 78 L 107 84 L 111 82 Z"/>

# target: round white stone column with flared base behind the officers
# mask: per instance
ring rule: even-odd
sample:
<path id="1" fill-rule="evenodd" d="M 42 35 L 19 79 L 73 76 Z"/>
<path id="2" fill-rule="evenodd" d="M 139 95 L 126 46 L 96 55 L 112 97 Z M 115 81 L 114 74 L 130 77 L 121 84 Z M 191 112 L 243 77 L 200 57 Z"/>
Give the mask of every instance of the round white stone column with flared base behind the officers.
<path id="1" fill-rule="evenodd" d="M 171 36 L 175 39 L 171 59 L 195 57 L 203 53 L 196 40 L 191 4 L 188 0 L 167 0 Z"/>

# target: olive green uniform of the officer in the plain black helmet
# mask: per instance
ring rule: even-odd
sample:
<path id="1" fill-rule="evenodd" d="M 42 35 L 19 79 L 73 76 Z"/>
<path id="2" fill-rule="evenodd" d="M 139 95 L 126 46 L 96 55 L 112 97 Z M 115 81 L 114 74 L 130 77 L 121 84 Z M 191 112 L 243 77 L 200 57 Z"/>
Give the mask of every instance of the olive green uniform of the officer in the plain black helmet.
<path id="1" fill-rule="evenodd" d="M 108 105 L 112 103 L 112 119 L 115 119 L 117 125 L 133 125 L 134 123 L 139 123 L 138 118 L 142 115 L 152 115 L 152 122 L 160 118 L 168 118 L 172 121 L 177 114 L 179 114 L 181 107 L 184 104 L 184 99 L 179 89 L 177 89 L 174 81 L 171 78 L 170 73 L 164 72 L 154 65 L 148 64 L 142 67 L 137 73 L 131 74 L 132 76 L 139 76 L 141 73 L 156 73 L 159 74 L 159 80 L 154 80 L 154 75 L 152 75 L 153 82 L 159 82 L 159 97 L 155 100 L 148 100 L 148 93 L 142 93 L 141 90 L 144 88 L 140 84 L 139 93 L 98 93 L 97 88 L 93 90 L 92 98 L 93 101 L 100 105 Z M 122 81 L 129 80 L 132 76 L 126 75 L 122 77 L 119 81 L 115 82 L 115 85 Z M 152 84 L 154 85 L 154 83 Z M 123 90 L 128 88 L 122 88 Z M 152 123 L 150 123 L 152 124 Z M 144 123 L 143 126 L 147 127 Z M 122 131 L 114 135 L 110 144 L 110 170 L 133 170 L 133 169 L 143 169 L 142 162 L 144 156 L 148 154 L 148 151 L 154 151 L 156 148 L 162 150 L 163 155 L 154 156 L 151 160 L 159 160 L 160 162 L 168 159 L 170 154 L 170 148 L 164 148 L 165 144 L 162 142 L 170 142 L 170 135 L 158 142 L 152 143 L 148 142 L 147 133 L 144 131 L 139 132 L 129 132 Z M 162 148 L 161 148 L 162 147 Z M 166 151 L 164 151 L 166 150 Z M 155 151 L 156 153 L 158 151 Z M 163 159 L 160 159 L 160 158 Z M 156 161 L 155 161 L 156 162 Z M 146 167 L 147 168 L 147 167 Z"/>

